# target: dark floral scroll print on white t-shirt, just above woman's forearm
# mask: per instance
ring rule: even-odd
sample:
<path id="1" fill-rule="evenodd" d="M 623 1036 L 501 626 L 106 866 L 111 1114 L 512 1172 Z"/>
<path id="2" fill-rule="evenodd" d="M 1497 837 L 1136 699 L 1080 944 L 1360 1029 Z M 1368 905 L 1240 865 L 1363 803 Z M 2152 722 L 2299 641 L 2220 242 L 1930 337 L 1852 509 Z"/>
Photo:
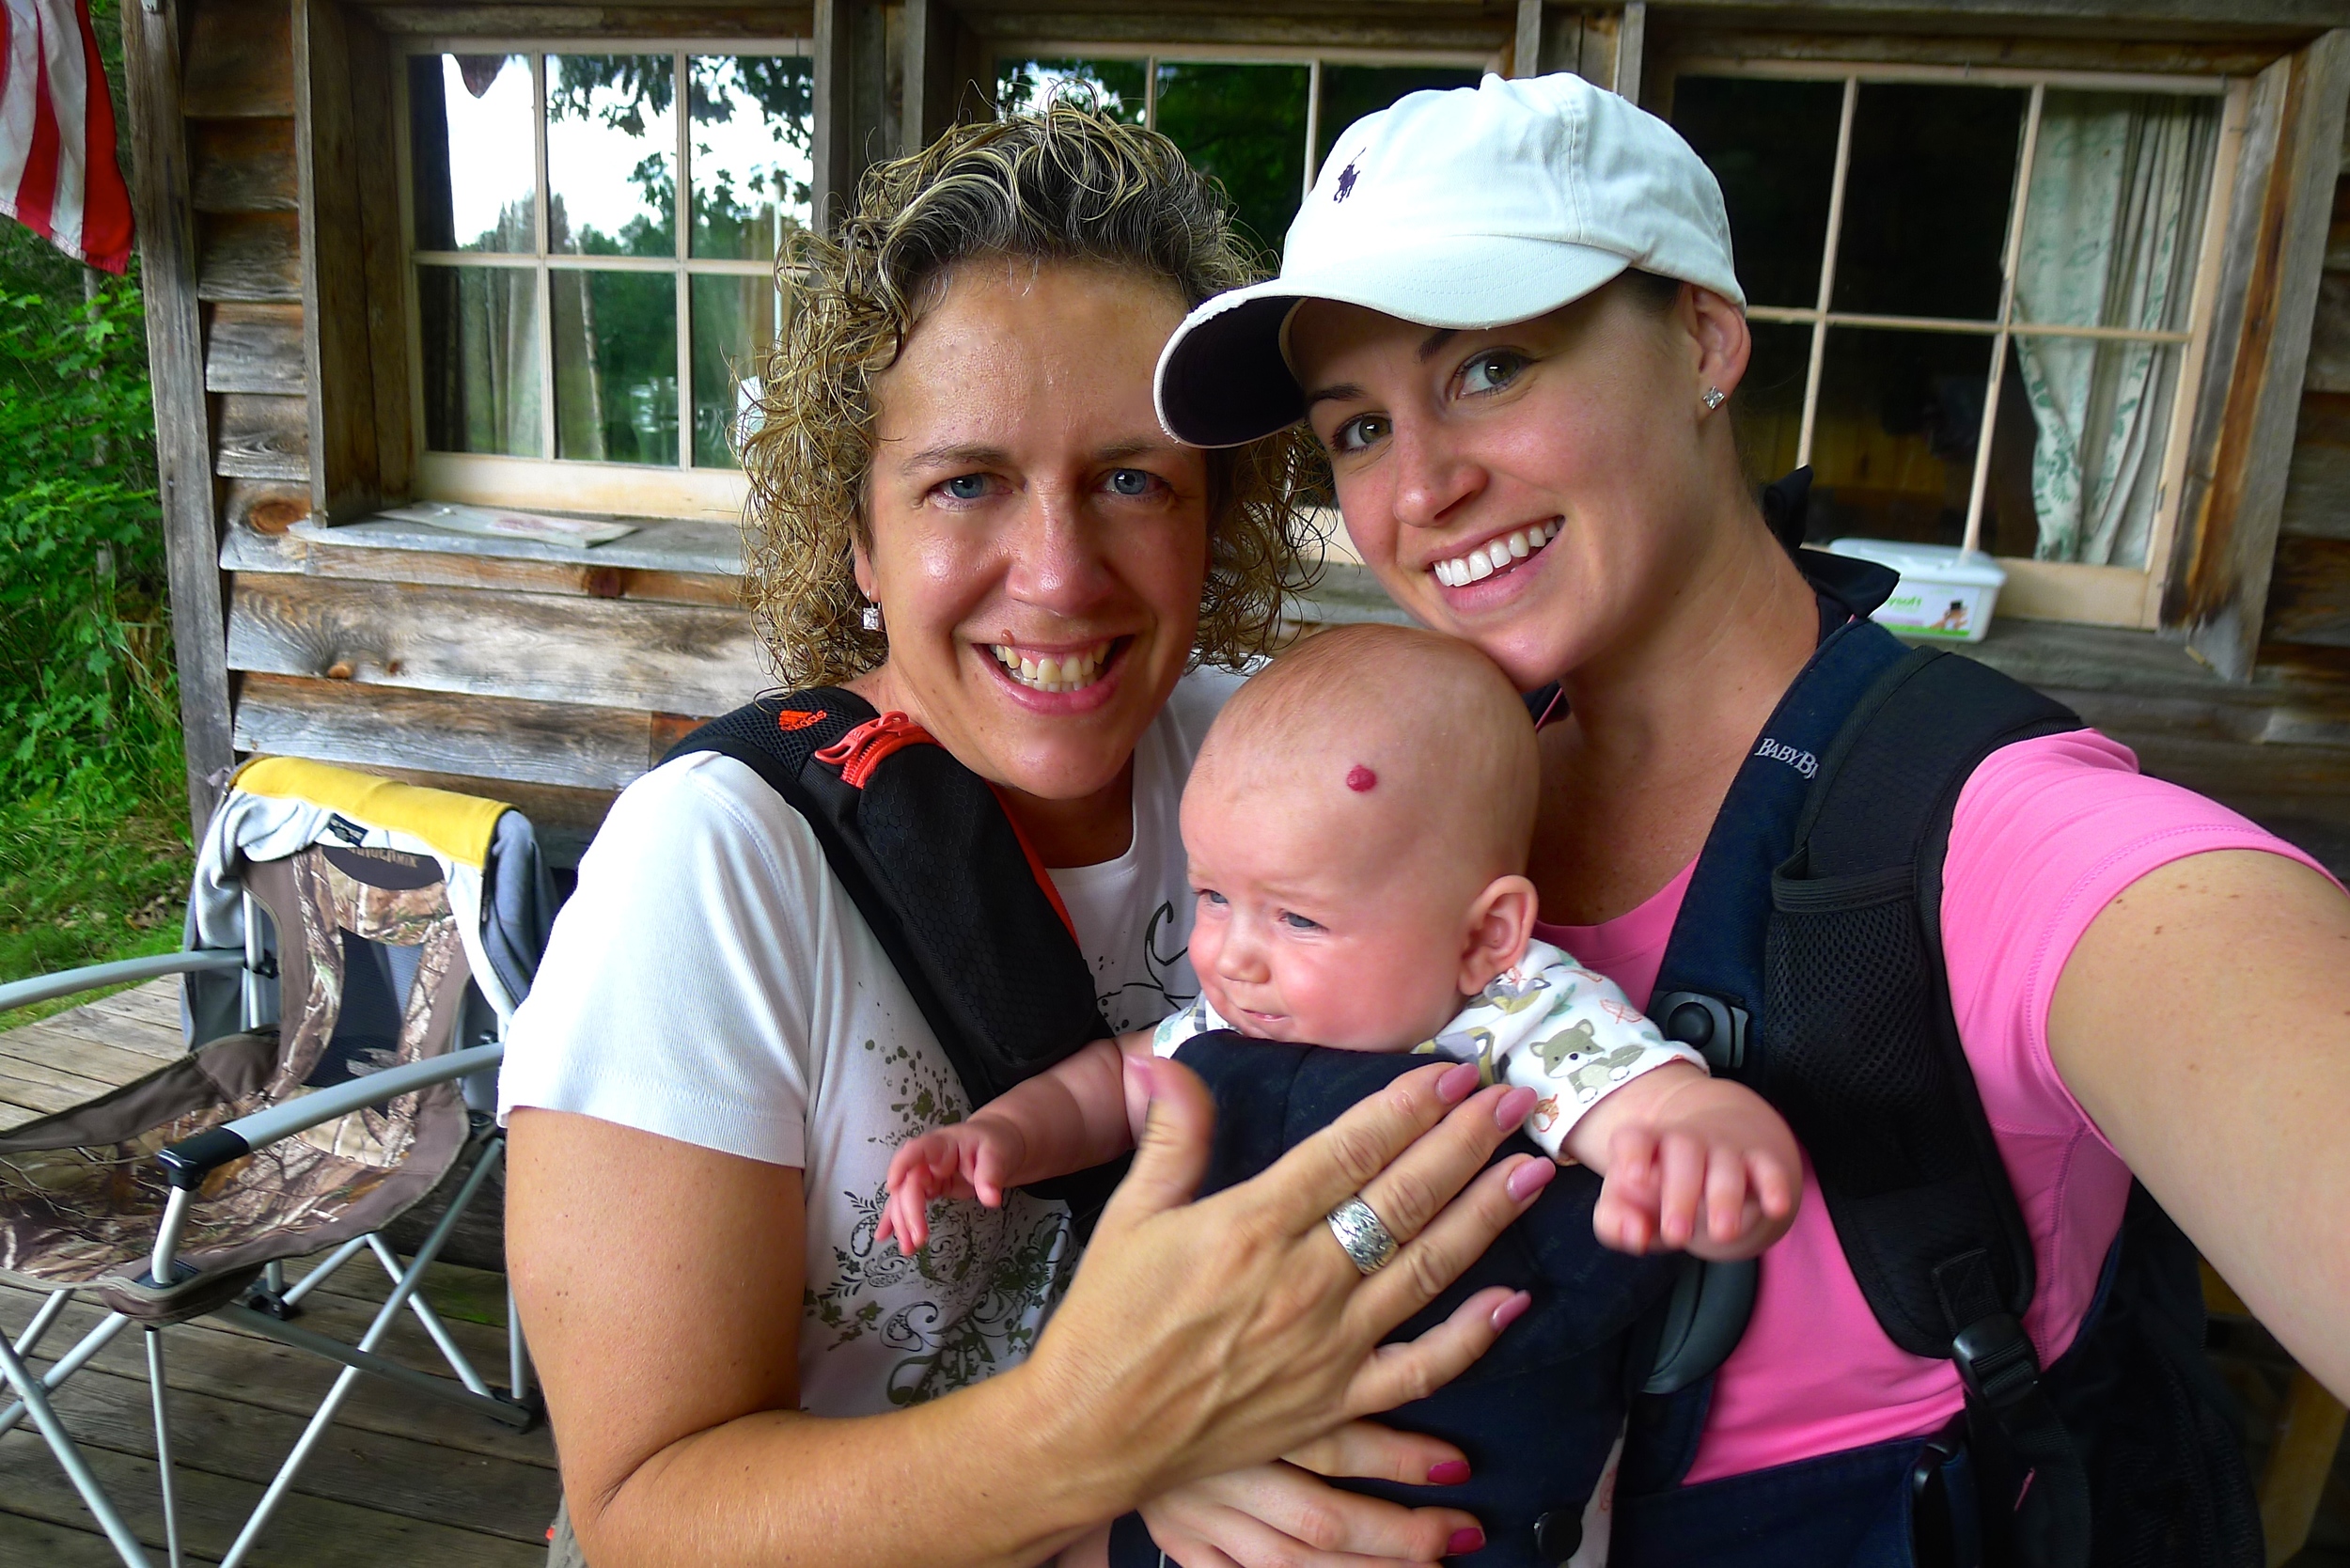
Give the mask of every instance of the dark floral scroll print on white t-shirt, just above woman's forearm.
<path id="1" fill-rule="evenodd" d="M 865 1048 L 881 1051 L 872 1039 Z M 898 1126 L 867 1143 L 895 1150 L 964 1119 L 964 1088 L 945 1063 L 893 1044 L 881 1070 Z M 1069 1288 L 1076 1248 L 1060 1204 L 1025 1192 L 1003 1194 L 1003 1208 L 938 1204 L 931 1244 L 907 1258 L 893 1244 L 874 1246 L 886 1187 L 844 1190 L 841 1201 L 855 1222 L 848 1246 L 832 1248 L 825 1288 L 811 1284 L 801 1295 L 804 1333 L 827 1352 L 867 1335 L 898 1352 L 886 1387 L 893 1406 L 938 1399 L 1010 1366 L 1029 1352 L 1036 1324 Z M 907 1291 L 921 1295 L 905 1300 Z"/>

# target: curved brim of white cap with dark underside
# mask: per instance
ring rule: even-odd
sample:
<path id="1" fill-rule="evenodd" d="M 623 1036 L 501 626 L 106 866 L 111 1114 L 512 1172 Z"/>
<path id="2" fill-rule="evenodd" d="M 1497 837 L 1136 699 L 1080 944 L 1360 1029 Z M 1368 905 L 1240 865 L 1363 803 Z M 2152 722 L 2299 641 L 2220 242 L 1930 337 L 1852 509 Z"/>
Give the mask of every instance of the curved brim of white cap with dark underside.
<path id="1" fill-rule="evenodd" d="M 1283 329 L 1309 299 L 1419 327 L 1502 327 L 1558 310 L 1626 266 L 1624 256 L 1586 244 L 1450 237 L 1217 294 L 1184 317 L 1159 355 L 1159 423 L 1191 447 L 1238 447 L 1304 418 Z"/>

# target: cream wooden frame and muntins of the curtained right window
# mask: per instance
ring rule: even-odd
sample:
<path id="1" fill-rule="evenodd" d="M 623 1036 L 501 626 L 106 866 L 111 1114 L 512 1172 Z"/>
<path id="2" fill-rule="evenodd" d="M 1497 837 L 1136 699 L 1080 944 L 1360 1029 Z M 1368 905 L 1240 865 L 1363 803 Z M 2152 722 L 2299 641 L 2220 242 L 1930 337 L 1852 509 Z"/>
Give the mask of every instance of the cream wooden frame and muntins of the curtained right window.
<path id="1" fill-rule="evenodd" d="M 1821 247 L 1819 296 L 1812 306 L 1748 306 L 1755 322 L 1786 322 L 1812 329 L 1810 360 L 1805 364 L 1802 425 L 1798 433 L 1795 463 L 1812 458 L 1814 418 L 1819 411 L 1819 376 L 1826 360 L 1828 327 L 1892 327 L 1906 331 L 1958 331 L 1990 341 L 1990 386 L 1983 397 L 1983 423 L 1974 444 L 1974 475 L 1967 494 L 1967 531 L 1962 548 L 1974 550 L 1981 541 L 1983 501 L 1990 477 L 1990 440 L 2000 409 L 2000 383 L 2007 369 L 2007 346 L 2016 336 L 2075 336 L 2176 343 L 2181 364 L 2171 395 L 2169 428 L 2162 449 L 2162 475 L 2157 480 L 2155 520 L 2146 538 L 2143 567 L 2094 567 L 2080 562 L 2042 562 L 2033 557 L 1995 557 L 2007 571 L 2007 588 L 2000 592 L 2000 614 L 2033 621 L 2075 621 L 2089 625 L 2155 628 L 2162 611 L 2174 541 L 2178 531 L 2181 503 L 2186 496 L 2188 458 L 2193 449 L 2195 411 L 2204 390 L 2204 362 L 2211 348 L 2211 320 L 2223 270 L 2228 216 L 2235 205 L 2235 181 L 2244 129 L 2251 115 L 2251 78 L 2230 75 L 2169 75 L 2129 71 L 2052 71 L 2052 68 L 1998 68 L 1998 66 L 1936 66 L 1936 63 L 1864 63 L 1842 59 L 1741 59 L 1741 56 L 1678 56 L 1668 66 L 1671 80 L 1685 75 L 1708 78 L 1765 78 L 1795 82 L 1840 82 L 1845 92 L 1842 120 L 1838 125 L 1835 174 L 1828 195 L 1828 233 Z M 1835 249 L 1845 207 L 1845 172 L 1852 158 L 1852 118 L 1861 85 L 1918 82 L 1918 85 L 1969 85 L 1969 87 L 2026 87 L 2030 101 L 2023 120 L 2023 139 L 2016 148 L 2016 183 L 2007 207 L 2007 235 L 2000 247 L 2000 308 L 1986 320 L 1943 317 L 1889 317 L 1861 315 L 1831 308 L 1835 287 Z M 2211 96 L 2221 101 L 2221 127 L 2214 143 L 2211 186 L 2204 200 L 2202 235 L 2195 254 L 2195 284 L 2188 296 L 2186 331 L 2134 331 L 2113 327 L 2066 327 L 2019 322 L 2014 315 L 2016 256 L 2023 242 L 2023 219 L 2030 202 L 2030 167 L 2037 150 L 2040 108 L 2049 87 L 2080 87 L 2094 92 L 2162 92 L 2181 96 Z"/>

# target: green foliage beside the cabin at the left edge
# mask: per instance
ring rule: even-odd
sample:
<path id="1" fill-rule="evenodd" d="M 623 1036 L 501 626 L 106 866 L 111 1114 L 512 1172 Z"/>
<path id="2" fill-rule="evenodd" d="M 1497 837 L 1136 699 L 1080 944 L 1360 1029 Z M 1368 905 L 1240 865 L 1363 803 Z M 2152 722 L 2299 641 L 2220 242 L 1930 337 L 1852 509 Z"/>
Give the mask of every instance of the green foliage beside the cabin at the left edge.
<path id="1" fill-rule="evenodd" d="M 89 14 L 120 87 L 118 5 Z M 0 219 L 0 978 L 179 945 L 172 668 L 139 282 Z"/>

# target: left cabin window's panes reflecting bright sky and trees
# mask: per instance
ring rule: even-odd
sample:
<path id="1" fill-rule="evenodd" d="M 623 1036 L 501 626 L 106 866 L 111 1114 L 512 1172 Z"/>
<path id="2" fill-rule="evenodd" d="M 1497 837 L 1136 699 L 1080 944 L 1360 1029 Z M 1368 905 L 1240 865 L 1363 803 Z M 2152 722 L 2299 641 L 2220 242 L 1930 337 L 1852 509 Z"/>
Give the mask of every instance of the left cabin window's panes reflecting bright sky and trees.
<path id="1" fill-rule="evenodd" d="M 813 80 L 797 45 L 409 56 L 425 449 L 733 468 Z"/>

